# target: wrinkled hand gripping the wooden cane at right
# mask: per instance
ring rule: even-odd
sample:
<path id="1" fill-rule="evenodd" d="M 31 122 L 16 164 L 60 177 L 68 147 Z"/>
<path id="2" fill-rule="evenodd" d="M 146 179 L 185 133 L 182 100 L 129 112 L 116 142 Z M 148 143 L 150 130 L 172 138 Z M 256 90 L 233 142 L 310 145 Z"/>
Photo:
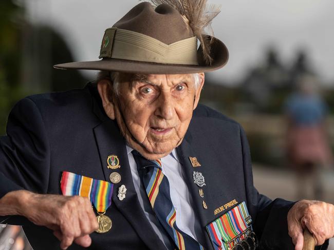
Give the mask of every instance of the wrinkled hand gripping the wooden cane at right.
<path id="1" fill-rule="evenodd" d="M 288 229 L 295 250 L 302 250 L 305 228 L 313 234 L 316 245 L 334 237 L 334 205 L 311 200 L 296 202 L 288 213 Z"/>

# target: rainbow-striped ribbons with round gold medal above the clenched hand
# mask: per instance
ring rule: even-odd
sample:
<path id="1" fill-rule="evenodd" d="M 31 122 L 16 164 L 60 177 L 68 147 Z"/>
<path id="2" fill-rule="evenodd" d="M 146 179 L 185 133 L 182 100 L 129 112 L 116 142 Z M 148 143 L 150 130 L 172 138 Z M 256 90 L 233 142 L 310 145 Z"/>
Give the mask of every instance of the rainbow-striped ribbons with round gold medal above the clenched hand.
<path id="1" fill-rule="evenodd" d="M 60 188 L 63 195 L 87 197 L 94 204 L 99 214 L 97 216 L 99 228 L 95 232 L 103 234 L 112 228 L 112 220 L 105 215 L 105 212 L 112 204 L 113 183 L 64 171 Z"/>

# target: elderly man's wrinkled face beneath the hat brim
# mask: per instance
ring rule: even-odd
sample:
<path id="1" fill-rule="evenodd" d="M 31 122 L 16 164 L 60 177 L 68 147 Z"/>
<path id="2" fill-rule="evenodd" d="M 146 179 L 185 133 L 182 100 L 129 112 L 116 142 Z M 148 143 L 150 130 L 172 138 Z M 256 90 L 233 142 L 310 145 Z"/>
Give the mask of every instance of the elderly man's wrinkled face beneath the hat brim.
<path id="1" fill-rule="evenodd" d="M 139 75 L 120 82 L 114 104 L 127 143 L 148 159 L 168 155 L 187 132 L 203 78 L 199 74 L 197 89 L 190 74 Z"/>

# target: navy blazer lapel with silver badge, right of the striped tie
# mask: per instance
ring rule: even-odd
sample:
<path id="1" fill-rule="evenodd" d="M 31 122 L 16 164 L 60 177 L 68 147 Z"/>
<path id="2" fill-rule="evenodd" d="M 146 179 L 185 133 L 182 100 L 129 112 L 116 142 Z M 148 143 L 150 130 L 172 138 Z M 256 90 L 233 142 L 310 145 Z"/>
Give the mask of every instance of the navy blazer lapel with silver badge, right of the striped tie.
<path id="1" fill-rule="evenodd" d="M 188 189 L 193 201 L 193 209 L 195 212 L 195 218 L 199 220 L 201 232 L 196 232 L 198 242 L 204 247 L 204 249 L 212 249 L 212 244 L 209 235 L 206 232 L 206 225 L 210 222 L 208 216 L 208 210 L 204 209 L 203 201 L 208 203 L 208 192 L 207 185 L 202 187 L 197 186 L 194 183 L 193 172 L 202 172 L 203 168 L 206 166 L 199 166 L 194 168 L 191 164 L 189 157 L 196 157 L 196 153 L 193 151 L 191 147 L 191 134 L 188 131 L 186 136 L 184 137 L 182 143 L 179 147 L 176 148 L 176 152 L 179 158 L 179 161 L 183 167 L 185 182 L 188 185 Z M 202 189 L 205 196 L 200 197 L 198 190 Z"/>

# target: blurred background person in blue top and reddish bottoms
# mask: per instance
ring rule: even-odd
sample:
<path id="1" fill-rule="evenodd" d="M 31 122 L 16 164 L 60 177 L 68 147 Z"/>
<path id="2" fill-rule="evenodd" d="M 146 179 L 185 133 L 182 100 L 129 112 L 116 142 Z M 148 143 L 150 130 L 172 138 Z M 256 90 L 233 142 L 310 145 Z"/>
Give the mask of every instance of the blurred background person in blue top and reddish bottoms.
<path id="1" fill-rule="evenodd" d="M 285 102 L 286 154 L 296 174 L 297 199 L 307 197 L 308 186 L 313 199 L 322 199 L 321 169 L 332 165 L 325 126 L 328 108 L 318 87 L 315 77 L 304 75 Z"/>

